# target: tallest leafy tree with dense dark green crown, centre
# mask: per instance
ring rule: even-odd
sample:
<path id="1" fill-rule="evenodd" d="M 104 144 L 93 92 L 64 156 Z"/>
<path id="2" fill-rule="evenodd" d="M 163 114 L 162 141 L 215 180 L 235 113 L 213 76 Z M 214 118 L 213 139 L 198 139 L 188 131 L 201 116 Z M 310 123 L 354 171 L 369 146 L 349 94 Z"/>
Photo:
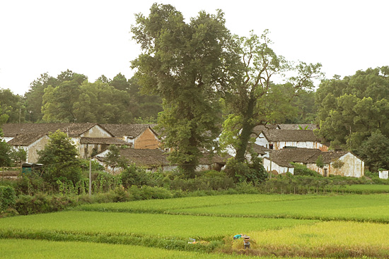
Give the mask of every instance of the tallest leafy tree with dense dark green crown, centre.
<path id="1" fill-rule="evenodd" d="M 239 77 L 238 56 L 221 11 L 200 11 L 189 23 L 170 5 L 150 11 L 137 14 L 132 27 L 142 50 L 132 68 L 144 92 L 163 98 L 158 124 L 164 145 L 173 148 L 170 161 L 193 172 L 202 148 L 210 150 L 219 134 L 216 91 Z"/>

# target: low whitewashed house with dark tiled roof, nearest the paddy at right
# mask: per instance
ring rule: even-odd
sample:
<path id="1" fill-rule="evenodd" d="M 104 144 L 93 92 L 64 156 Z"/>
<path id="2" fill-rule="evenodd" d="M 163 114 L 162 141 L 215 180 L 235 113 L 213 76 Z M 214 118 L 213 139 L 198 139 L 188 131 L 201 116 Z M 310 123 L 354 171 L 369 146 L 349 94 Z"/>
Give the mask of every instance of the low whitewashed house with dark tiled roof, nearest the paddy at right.
<path id="1" fill-rule="evenodd" d="M 323 168 L 316 164 L 319 156 L 323 159 Z M 352 177 L 364 176 L 364 161 L 352 152 L 347 151 L 323 152 L 310 148 L 286 148 L 272 150 L 269 157 L 263 159 L 265 169 L 277 174 L 286 172 L 294 174 L 294 166 L 291 162 L 303 164 L 308 169 L 317 171 L 323 176 L 330 176 L 330 174 Z M 339 167 L 339 165 L 341 166 Z"/>

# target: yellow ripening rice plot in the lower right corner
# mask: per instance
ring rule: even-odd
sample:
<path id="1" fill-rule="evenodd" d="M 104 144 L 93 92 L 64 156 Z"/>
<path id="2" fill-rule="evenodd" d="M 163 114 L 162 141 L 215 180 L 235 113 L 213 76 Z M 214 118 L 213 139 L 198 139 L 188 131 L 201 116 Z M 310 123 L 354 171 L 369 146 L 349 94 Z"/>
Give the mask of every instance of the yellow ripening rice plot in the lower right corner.
<path id="1" fill-rule="evenodd" d="M 318 222 L 295 228 L 250 232 L 252 253 L 277 256 L 371 256 L 388 258 L 389 225 Z M 236 249 L 240 243 L 235 242 Z M 292 249 L 291 249 L 292 248 Z"/>

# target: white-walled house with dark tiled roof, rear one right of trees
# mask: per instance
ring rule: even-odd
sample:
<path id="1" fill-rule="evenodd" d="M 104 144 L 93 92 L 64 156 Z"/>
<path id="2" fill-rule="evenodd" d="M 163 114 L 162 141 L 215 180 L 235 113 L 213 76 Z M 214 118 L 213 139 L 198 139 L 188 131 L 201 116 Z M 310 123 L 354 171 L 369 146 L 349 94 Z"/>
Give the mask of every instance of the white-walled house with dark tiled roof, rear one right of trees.
<path id="1" fill-rule="evenodd" d="M 270 150 L 280 150 L 284 147 L 301 147 L 327 151 L 328 147 L 322 141 L 313 131 L 267 129 L 258 134 L 255 143 Z"/>

